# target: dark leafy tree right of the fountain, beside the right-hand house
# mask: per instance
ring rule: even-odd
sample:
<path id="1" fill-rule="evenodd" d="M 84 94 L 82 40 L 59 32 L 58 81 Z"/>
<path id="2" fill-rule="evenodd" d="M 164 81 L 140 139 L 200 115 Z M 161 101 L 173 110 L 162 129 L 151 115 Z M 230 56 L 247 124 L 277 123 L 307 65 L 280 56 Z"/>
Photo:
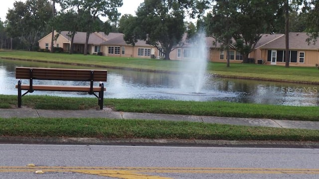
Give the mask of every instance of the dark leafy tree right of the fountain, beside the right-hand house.
<path id="1" fill-rule="evenodd" d="M 275 0 L 237 0 L 237 10 L 233 17 L 238 25 L 234 34 L 236 51 L 248 59 L 263 33 L 272 30 L 272 21 L 277 13 Z"/>

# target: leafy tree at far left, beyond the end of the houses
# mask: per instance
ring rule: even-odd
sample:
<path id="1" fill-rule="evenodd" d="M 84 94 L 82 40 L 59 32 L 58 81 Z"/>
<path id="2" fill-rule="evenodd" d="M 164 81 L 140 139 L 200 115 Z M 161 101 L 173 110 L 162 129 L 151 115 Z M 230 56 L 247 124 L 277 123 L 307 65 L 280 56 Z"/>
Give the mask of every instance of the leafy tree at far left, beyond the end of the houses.
<path id="1" fill-rule="evenodd" d="M 7 32 L 11 37 L 18 37 L 28 46 L 36 48 L 37 41 L 47 34 L 52 7 L 48 0 L 27 0 L 25 3 L 15 1 L 13 8 L 6 15 Z"/>

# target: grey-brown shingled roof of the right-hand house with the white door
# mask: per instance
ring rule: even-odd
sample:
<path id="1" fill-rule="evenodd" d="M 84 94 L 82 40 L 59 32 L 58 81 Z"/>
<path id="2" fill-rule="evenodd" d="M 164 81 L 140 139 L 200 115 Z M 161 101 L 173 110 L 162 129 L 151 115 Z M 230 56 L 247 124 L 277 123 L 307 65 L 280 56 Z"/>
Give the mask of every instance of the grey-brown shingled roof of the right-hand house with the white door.
<path id="1" fill-rule="evenodd" d="M 289 48 L 299 50 L 318 50 L 319 43 L 313 44 L 306 41 L 308 35 L 306 32 L 290 32 L 289 33 Z M 286 48 L 286 35 L 282 35 L 269 43 L 261 46 L 262 49 L 285 49 Z"/>

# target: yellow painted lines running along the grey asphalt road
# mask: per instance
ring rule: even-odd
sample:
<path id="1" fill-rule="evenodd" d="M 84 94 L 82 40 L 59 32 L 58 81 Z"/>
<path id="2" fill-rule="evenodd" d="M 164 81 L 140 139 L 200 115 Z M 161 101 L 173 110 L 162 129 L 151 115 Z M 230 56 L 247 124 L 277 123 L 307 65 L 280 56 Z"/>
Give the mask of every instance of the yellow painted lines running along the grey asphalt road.
<path id="1" fill-rule="evenodd" d="M 279 169 L 279 168 L 164 168 L 164 167 L 0 167 L 0 173 L 15 172 L 76 172 L 121 179 L 168 179 L 143 175 L 143 173 L 181 174 L 306 174 L 319 175 L 319 169 Z"/>

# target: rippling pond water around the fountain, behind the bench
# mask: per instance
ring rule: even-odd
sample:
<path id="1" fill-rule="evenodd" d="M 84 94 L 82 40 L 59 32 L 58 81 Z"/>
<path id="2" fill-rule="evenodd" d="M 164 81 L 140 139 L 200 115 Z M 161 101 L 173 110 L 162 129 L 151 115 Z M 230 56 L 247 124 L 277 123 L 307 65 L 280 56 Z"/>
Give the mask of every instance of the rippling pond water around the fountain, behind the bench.
<path id="1" fill-rule="evenodd" d="M 0 59 L 0 94 L 16 95 L 15 67 L 83 68 L 52 63 Z M 101 68 L 100 68 L 101 69 Z M 280 105 L 319 106 L 319 86 L 267 81 L 207 77 L 200 92 L 194 93 L 191 80 L 181 83 L 183 74 L 108 70 L 105 98 L 170 99 L 192 101 L 231 101 Z M 191 79 L 190 77 L 188 79 Z M 27 83 L 28 81 L 22 81 Z M 40 83 L 40 82 L 34 82 Z M 42 82 L 41 82 L 42 83 Z M 69 82 L 49 82 L 63 84 Z M 83 82 L 72 82 L 83 85 Z M 85 96 L 83 92 L 35 91 L 27 95 Z"/>

